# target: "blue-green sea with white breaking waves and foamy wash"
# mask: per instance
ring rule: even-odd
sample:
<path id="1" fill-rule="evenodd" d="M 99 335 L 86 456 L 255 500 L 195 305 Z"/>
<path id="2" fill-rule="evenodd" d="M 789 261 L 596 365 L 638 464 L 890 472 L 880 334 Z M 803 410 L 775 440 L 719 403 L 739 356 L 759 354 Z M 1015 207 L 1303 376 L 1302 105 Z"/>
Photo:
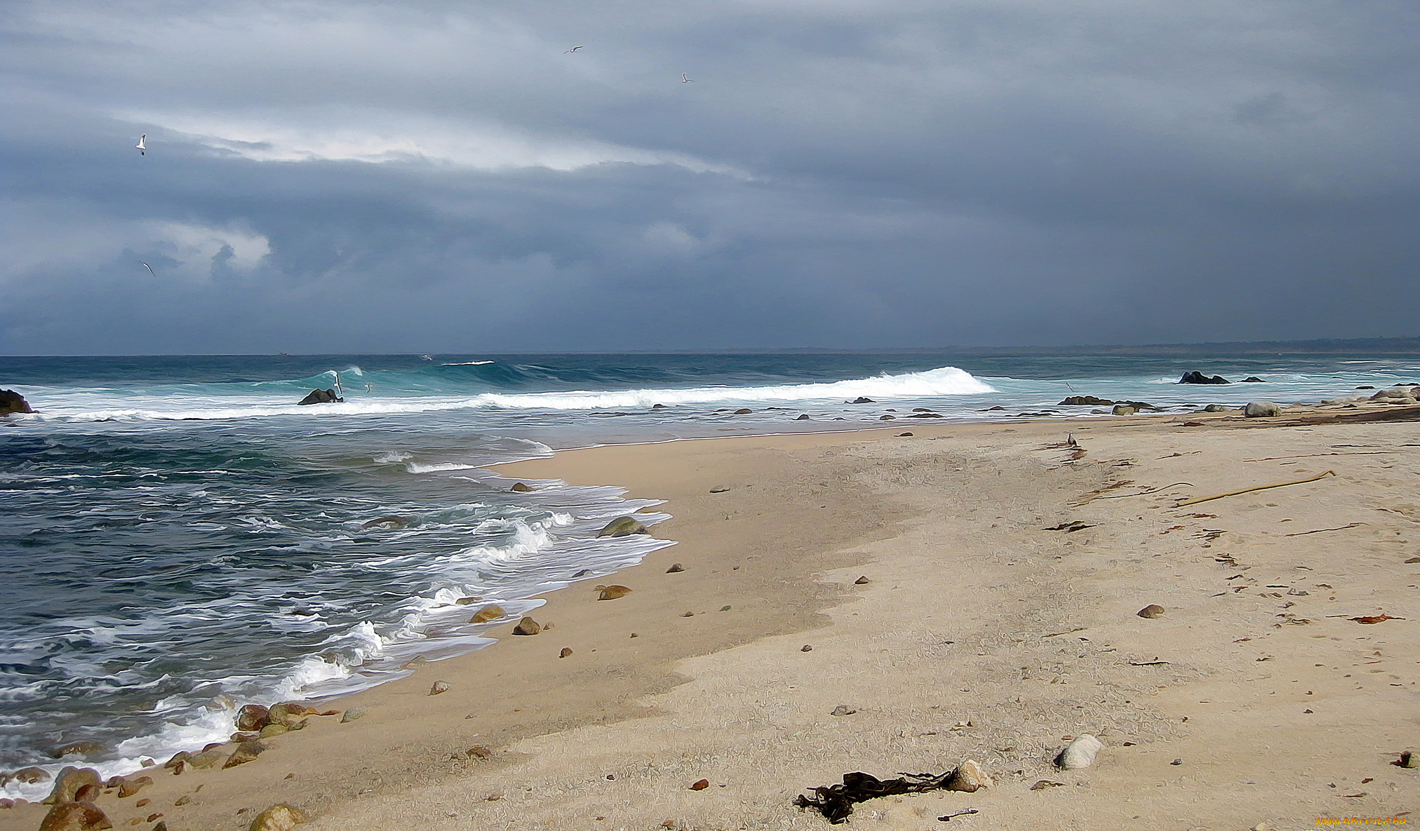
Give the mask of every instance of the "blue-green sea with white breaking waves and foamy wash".
<path id="1" fill-rule="evenodd" d="M 1268 384 L 1174 384 L 1186 369 Z M 295 405 L 337 372 L 344 403 Z M 0 358 L 0 388 L 41 411 L 0 428 L 0 770 L 58 770 L 75 759 L 51 751 L 80 740 L 105 747 L 84 759 L 105 776 L 200 749 L 233 732 L 230 702 L 339 695 L 491 643 L 460 598 L 521 614 L 669 544 L 595 537 L 655 503 L 562 483 L 510 493 L 490 463 L 882 426 L 888 409 L 903 426 L 913 408 L 1015 418 L 1076 392 L 1318 401 L 1417 374 L 1409 358 Z M 845 403 L 858 398 L 873 401 Z M 390 514 L 410 521 L 362 527 Z"/>

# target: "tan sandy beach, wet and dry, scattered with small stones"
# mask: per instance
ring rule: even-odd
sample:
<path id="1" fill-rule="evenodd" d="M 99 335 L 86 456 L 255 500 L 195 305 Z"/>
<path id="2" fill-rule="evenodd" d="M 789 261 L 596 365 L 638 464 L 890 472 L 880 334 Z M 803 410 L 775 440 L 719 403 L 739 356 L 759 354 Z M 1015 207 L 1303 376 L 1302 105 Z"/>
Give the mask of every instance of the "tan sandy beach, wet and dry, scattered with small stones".
<path id="1" fill-rule="evenodd" d="M 913 423 L 504 474 L 665 499 L 655 533 L 679 544 L 619 572 L 621 599 L 554 592 L 551 631 L 338 702 L 361 720 L 105 795 L 115 825 L 227 831 L 285 801 L 311 831 L 826 828 L 792 807 L 805 787 L 964 759 L 994 787 L 862 803 L 849 827 L 1301 828 L 1420 804 L 1420 770 L 1390 764 L 1420 749 L 1420 423 Z M 1054 767 L 1079 733 L 1098 763 Z"/>

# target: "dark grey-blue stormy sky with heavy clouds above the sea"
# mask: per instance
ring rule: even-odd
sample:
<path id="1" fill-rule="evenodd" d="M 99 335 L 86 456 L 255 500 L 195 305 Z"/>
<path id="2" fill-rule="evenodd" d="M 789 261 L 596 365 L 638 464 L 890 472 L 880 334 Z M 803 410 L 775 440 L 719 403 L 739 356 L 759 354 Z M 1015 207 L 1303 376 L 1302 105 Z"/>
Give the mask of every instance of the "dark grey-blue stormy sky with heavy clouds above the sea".
<path id="1" fill-rule="evenodd" d="M 1417 44 L 1413 0 L 10 0 L 0 354 L 1416 335 Z"/>

